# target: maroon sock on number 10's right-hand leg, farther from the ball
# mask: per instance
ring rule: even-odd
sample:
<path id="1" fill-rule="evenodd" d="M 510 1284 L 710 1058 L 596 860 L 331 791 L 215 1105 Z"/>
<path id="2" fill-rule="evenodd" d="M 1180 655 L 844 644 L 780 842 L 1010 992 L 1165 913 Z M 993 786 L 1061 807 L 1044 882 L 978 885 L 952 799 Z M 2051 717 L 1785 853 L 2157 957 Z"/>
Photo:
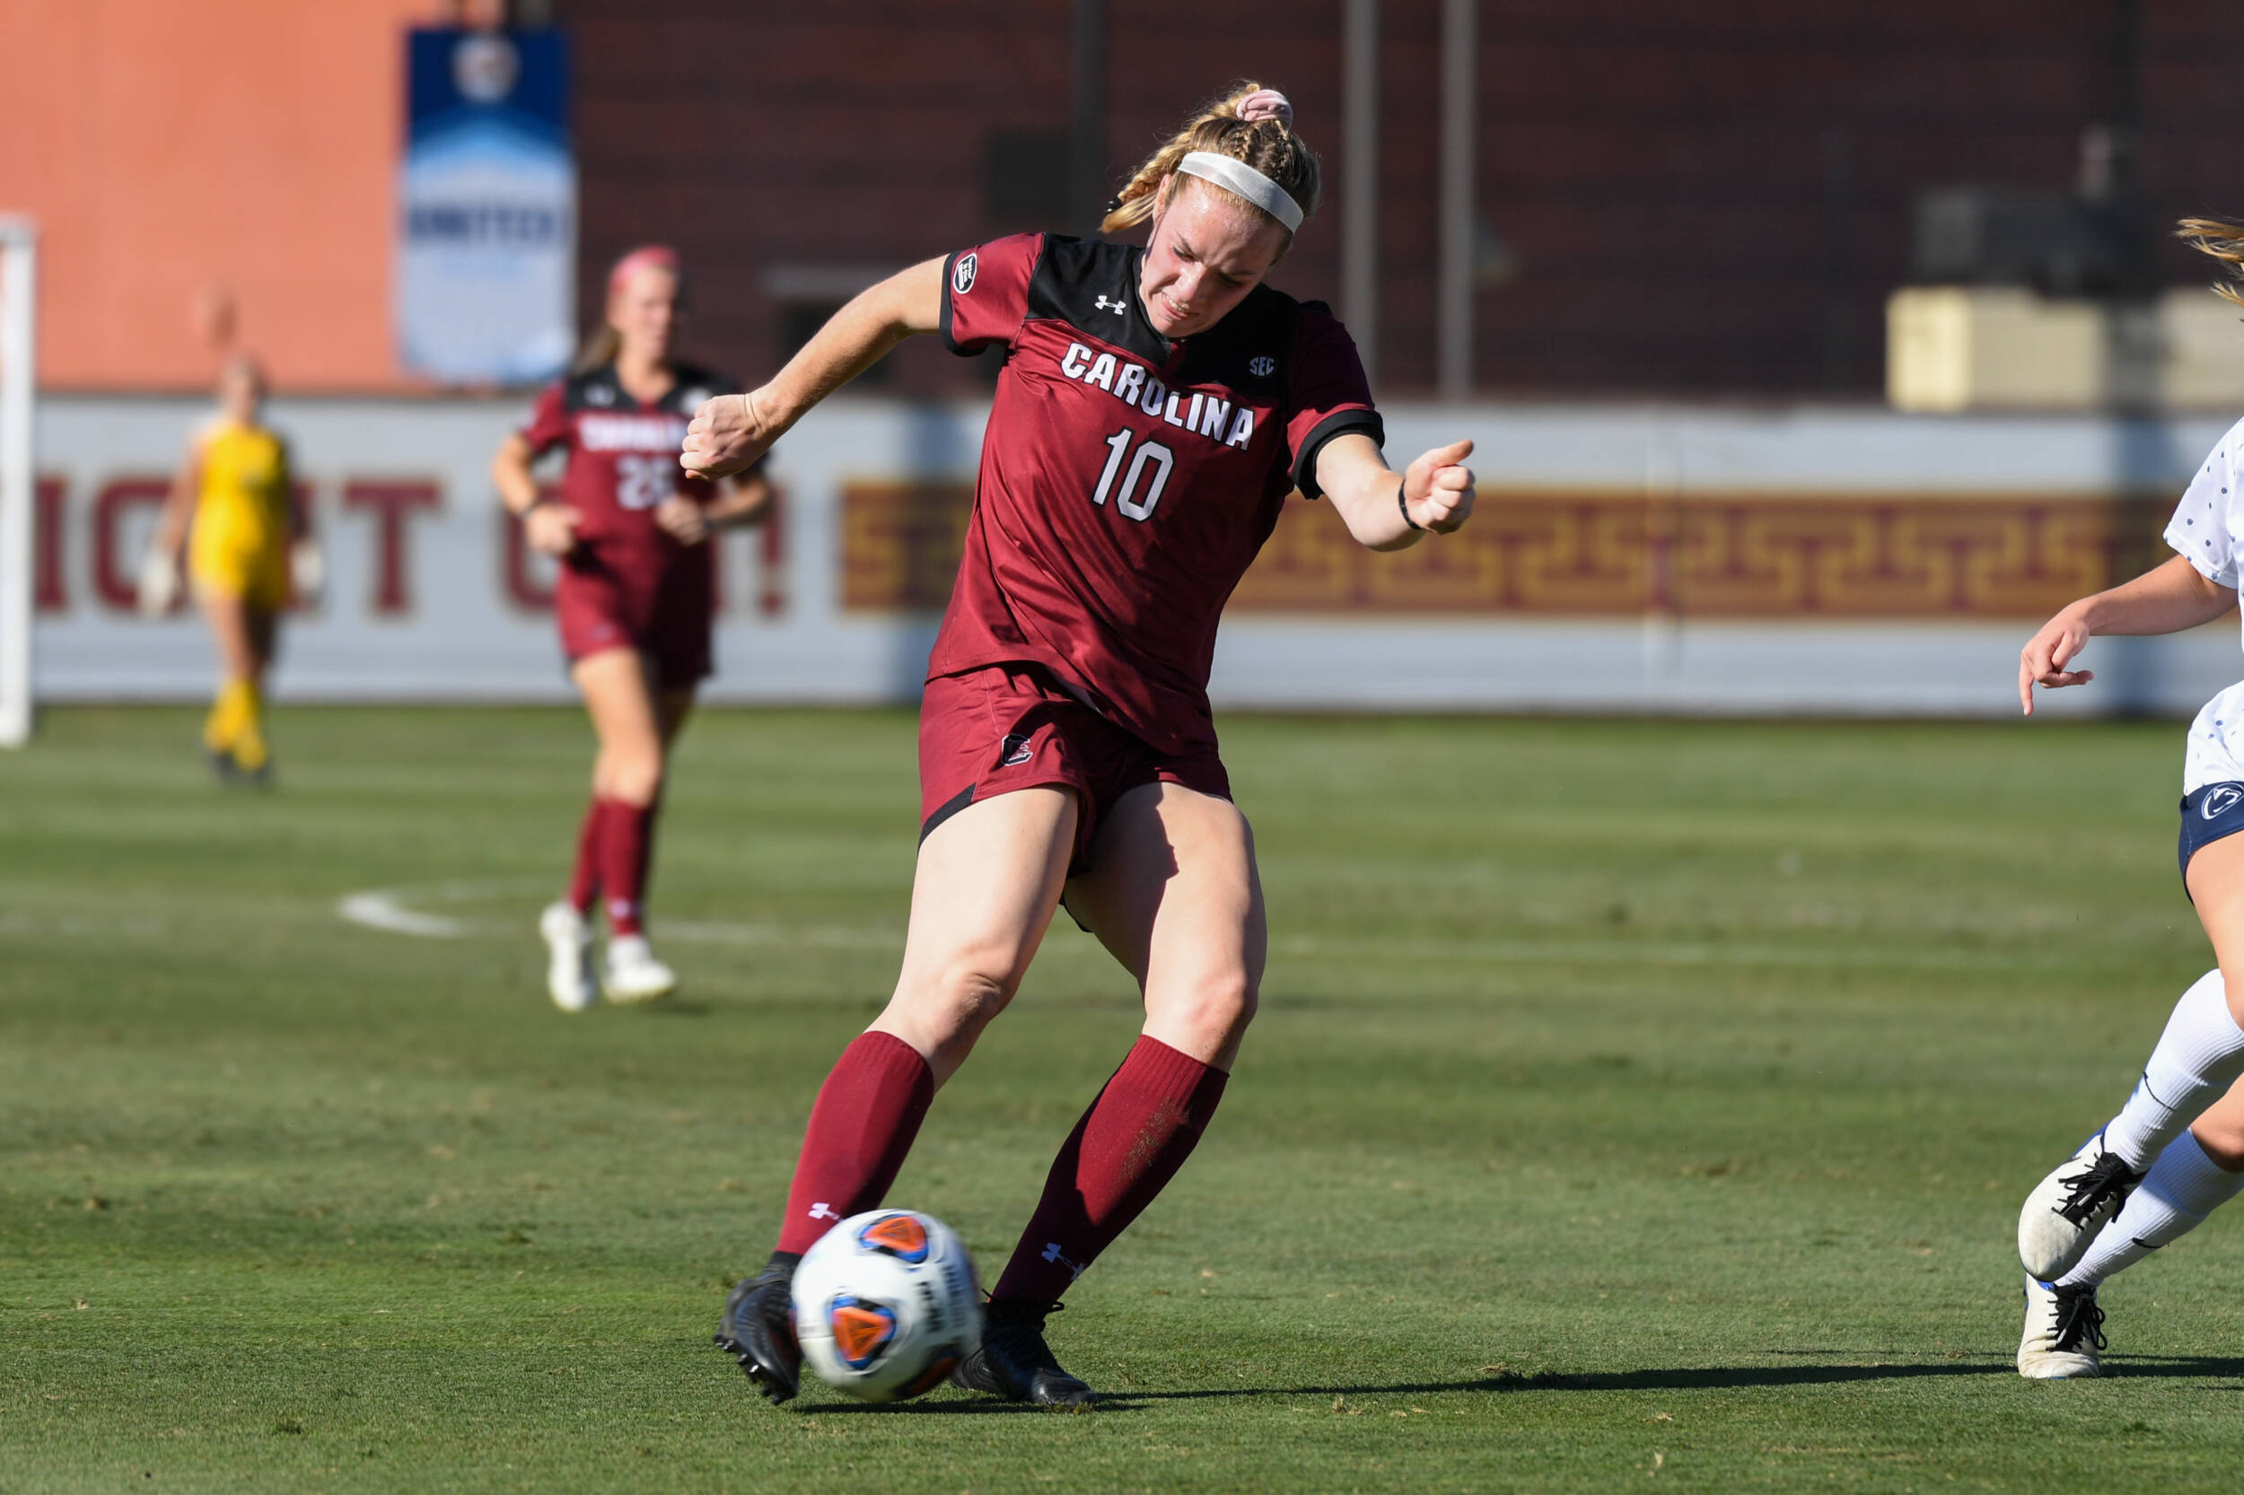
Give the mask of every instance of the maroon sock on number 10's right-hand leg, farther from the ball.
<path id="1" fill-rule="evenodd" d="M 1052 1158 L 1043 1199 L 990 1297 L 1066 1293 L 1192 1156 L 1227 1077 L 1140 1037 Z"/>

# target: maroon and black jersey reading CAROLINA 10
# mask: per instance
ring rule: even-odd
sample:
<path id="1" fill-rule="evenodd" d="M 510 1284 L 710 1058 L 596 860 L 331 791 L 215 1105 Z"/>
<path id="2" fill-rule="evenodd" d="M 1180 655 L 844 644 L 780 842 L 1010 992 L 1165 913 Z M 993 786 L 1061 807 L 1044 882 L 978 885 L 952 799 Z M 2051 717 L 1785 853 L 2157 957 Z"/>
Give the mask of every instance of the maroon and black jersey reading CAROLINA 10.
<path id="1" fill-rule="evenodd" d="M 942 341 L 1005 348 L 974 516 L 927 678 L 1028 660 L 1138 739 L 1216 741 L 1216 620 L 1324 442 L 1382 440 L 1355 343 L 1268 285 L 1167 341 L 1144 249 L 1057 233 L 942 265 Z"/>

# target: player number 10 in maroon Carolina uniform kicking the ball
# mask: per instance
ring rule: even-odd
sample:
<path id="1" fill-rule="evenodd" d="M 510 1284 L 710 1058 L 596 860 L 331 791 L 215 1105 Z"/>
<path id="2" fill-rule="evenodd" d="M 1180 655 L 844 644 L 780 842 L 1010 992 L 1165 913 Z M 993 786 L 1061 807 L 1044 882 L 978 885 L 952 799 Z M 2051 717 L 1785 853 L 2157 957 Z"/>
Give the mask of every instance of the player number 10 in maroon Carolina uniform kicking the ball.
<path id="1" fill-rule="evenodd" d="M 1216 620 L 1293 489 L 1398 550 L 1472 512 L 1472 442 L 1396 474 L 1349 334 L 1263 285 L 1317 200 L 1284 99 L 1210 106 L 1106 218 L 929 260 L 846 305 L 770 384 L 693 418 L 682 462 L 754 462 L 913 332 L 1001 346 L 974 519 L 920 709 L 922 840 L 895 997 L 810 1111 L 779 1248 L 718 1342 L 797 1389 L 799 1255 L 893 1183 L 936 1089 L 1012 999 L 1055 907 L 1138 979 L 1144 1028 L 1052 1163 L 954 1381 L 1086 1403 L 1043 1340 L 1059 1295 L 1185 1163 L 1263 967 L 1254 842 L 1207 709 Z"/>

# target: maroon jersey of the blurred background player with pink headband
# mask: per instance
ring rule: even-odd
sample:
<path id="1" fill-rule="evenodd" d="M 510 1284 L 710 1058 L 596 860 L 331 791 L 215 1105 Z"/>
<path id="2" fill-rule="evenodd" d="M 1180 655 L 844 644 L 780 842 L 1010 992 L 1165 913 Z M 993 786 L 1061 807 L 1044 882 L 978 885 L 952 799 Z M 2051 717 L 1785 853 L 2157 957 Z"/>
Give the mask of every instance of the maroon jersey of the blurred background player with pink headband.
<path id="1" fill-rule="evenodd" d="M 615 364 L 604 364 L 539 395 L 523 440 L 532 456 L 568 449 L 561 503 L 579 514 L 579 550 L 610 557 L 644 552 L 649 559 L 684 550 L 655 525 L 655 505 L 671 494 L 707 503 L 716 492 L 707 478 L 691 478 L 678 467 L 678 449 L 693 411 L 711 395 L 738 388 L 702 368 L 678 366 L 671 393 L 640 404 L 624 393 Z"/>

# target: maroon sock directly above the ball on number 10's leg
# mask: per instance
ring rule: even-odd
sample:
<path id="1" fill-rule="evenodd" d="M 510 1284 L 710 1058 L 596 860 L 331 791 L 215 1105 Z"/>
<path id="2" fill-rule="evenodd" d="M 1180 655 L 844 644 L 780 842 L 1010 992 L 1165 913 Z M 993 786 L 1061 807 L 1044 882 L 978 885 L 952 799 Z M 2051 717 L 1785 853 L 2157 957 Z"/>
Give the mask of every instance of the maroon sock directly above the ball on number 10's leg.
<path id="1" fill-rule="evenodd" d="M 859 1033 L 819 1086 L 788 1190 L 779 1250 L 806 1253 L 837 1221 L 880 1205 L 936 1100 L 936 1071 L 891 1033 Z"/>

